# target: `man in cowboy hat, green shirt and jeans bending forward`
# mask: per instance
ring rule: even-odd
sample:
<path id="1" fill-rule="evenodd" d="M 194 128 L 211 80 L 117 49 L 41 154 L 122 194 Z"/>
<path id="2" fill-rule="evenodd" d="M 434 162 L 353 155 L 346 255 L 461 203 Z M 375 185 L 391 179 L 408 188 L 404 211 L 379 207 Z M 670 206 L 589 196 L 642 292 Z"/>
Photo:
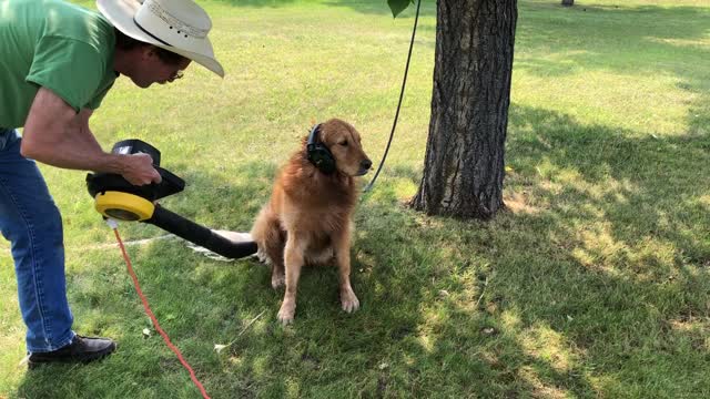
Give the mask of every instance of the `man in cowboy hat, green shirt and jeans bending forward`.
<path id="1" fill-rule="evenodd" d="M 160 182 L 146 154 L 104 152 L 89 127 L 114 80 L 140 88 L 195 61 L 220 76 L 210 17 L 191 0 L 0 0 L 0 231 L 11 242 L 29 366 L 90 361 L 115 349 L 72 329 L 62 221 L 34 161 Z M 24 127 L 22 136 L 14 130 Z"/>

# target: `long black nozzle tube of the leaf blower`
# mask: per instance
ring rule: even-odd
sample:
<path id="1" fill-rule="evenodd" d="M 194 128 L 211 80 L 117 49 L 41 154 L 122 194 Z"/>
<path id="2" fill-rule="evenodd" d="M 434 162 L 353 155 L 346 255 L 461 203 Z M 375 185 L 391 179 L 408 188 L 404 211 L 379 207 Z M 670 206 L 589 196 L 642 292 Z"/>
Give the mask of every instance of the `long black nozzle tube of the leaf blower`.
<path id="1" fill-rule="evenodd" d="M 256 243 L 234 243 L 213 231 L 155 204 L 151 218 L 142 221 L 231 259 L 256 253 Z"/>

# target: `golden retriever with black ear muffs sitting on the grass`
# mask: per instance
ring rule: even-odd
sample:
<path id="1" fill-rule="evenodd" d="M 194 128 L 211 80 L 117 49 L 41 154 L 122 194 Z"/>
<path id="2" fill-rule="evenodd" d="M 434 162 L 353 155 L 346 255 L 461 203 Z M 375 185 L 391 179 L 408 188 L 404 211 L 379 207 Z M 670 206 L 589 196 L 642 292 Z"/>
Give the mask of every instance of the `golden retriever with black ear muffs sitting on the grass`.
<path id="1" fill-rule="evenodd" d="M 371 166 L 355 127 L 332 119 L 316 125 L 281 170 L 251 235 L 260 258 L 272 267 L 272 287 L 286 285 L 278 310 L 284 325 L 293 321 L 305 264 L 335 259 L 343 310 L 359 308 L 351 286 L 352 215 L 358 194 L 356 176 Z"/>

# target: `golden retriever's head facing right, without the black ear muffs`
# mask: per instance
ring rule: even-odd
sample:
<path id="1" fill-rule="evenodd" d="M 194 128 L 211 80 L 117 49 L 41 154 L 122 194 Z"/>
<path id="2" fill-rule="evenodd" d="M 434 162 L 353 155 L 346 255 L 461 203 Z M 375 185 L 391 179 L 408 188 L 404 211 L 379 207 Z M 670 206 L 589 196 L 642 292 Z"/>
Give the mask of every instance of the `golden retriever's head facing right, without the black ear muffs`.
<path id="1" fill-rule="evenodd" d="M 373 165 L 363 151 L 359 133 L 347 122 L 332 119 L 322 123 L 318 142 L 333 154 L 335 168 L 347 176 L 362 176 Z"/>

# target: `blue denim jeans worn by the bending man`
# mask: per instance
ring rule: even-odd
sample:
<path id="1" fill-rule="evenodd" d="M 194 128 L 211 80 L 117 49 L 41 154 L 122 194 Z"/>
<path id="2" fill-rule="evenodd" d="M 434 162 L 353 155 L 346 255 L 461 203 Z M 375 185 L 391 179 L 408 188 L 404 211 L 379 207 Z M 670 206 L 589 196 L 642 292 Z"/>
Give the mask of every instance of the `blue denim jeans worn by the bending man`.
<path id="1" fill-rule="evenodd" d="M 67 301 L 62 218 L 20 135 L 0 127 L 0 232 L 12 244 L 27 349 L 45 352 L 74 337 Z"/>

